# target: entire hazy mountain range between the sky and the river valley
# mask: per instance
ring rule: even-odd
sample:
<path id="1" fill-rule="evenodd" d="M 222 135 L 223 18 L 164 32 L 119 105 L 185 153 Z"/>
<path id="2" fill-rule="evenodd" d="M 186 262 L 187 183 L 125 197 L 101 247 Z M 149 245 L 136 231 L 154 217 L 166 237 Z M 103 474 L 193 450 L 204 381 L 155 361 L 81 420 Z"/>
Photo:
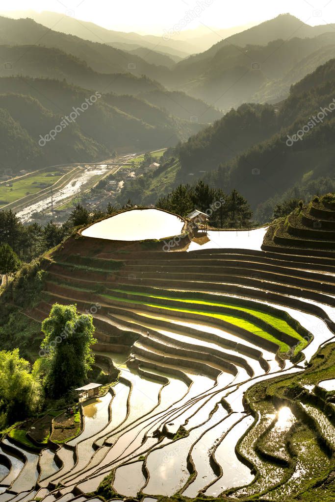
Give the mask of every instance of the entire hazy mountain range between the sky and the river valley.
<path id="1" fill-rule="evenodd" d="M 55 16 L 35 17 L 48 19 L 50 26 Z M 311 27 L 281 15 L 236 29 L 185 57 L 190 47 L 175 40 L 166 51 L 154 47 L 154 36 L 95 25 L 89 39 L 89 23 L 57 16 L 57 31 L 30 18 L 0 18 L 1 141 L 7 166 L 30 169 L 62 159 L 104 158 L 114 150 L 171 147 L 155 179 L 145 182 L 146 201 L 206 172 L 216 186 L 238 188 L 253 208 L 287 191 L 289 180 L 303 184 L 330 174 L 331 116 L 303 142 L 285 144 L 335 90 L 330 25 Z M 102 32 L 105 41 L 95 40 Z M 192 40 L 190 33 L 183 36 Z M 173 54 L 172 46 L 184 50 Z M 95 92 L 101 98 L 60 135 L 62 147 L 50 143 L 41 151 L 40 135 Z M 135 182 L 132 195 L 141 197 L 140 192 Z"/>

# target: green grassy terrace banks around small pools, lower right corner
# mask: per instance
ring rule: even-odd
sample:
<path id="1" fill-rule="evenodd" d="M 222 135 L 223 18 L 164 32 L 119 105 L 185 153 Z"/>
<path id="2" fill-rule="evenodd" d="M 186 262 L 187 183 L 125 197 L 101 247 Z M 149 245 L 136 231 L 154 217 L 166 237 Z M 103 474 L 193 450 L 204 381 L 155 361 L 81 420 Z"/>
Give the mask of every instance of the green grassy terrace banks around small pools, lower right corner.
<path id="1" fill-rule="evenodd" d="M 324 376 L 333 376 L 334 365 L 335 344 L 332 343 L 319 349 L 303 372 L 262 381 L 247 390 L 246 402 L 254 412 L 260 415 L 261 420 L 266 420 L 268 414 L 273 413 L 274 404 L 277 409 L 282 406 L 291 408 L 296 419 L 292 429 L 286 434 L 283 431 L 283 434 L 277 438 L 281 439 L 281 445 L 290 457 L 288 466 L 286 468 L 282 466 L 286 473 L 280 485 L 272 491 L 268 491 L 270 487 L 268 484 L 265 488 L 267 495 L 261 496 L 259 492 L 256 493 L 259 488 L 256 478 L 256 482 L 245 490 L 245 496 L 239 496 L 240 500 L 285 500 L 285 502 L 293 502 L 293 500 L 332 502 L 335 500 L 335 486 L 331 474 L 334 468 L 334 456 L 330 457 L 320 443 L 319 439 L 322 433 L 316 430 L 313 425 L 305 423 L 303 417 L 298 413 L 301 401 L 306 403 L 311 401 L 315 406 L 315 396 L 308 394 L 303 386 L 316 385 Z M 322 406 L 322 399 L 317 402 Z M 323 402 L 323 406 L 326 412 L 326 402 Z M 254 441 L 261 445 L 265 452 L 276 453 L 276 437 L 273 435 L 271 437 L 270 431 L 269 434 L 258 439 L 255 434 L 256 428 L 253 427 L 240 445 L 238 444 L 238 451 L 243 455 L 246 453 L 245 447 L 243 447 L 243 443 L 245 443 L 248 446 L 248 456 L 248 451 L 250 452 L 250 449 L 253 448 L 254 438 Z M 292 476 L 295 462 L 300 468 L 300 472 L 295 471 L 299 472 L 299 476 Z M 267 462 L 266 459 L 262 459 L 262 471 L 265 466 L 268 470 L 270 469 L 271 473 L 271 468 L 274 468 L 274 465 L 276 464 L 273 464 L 272 461 Z M 238 492 L 231 490 L 230 496 L 234 498 L 234 495 L 238 495 Z"/>

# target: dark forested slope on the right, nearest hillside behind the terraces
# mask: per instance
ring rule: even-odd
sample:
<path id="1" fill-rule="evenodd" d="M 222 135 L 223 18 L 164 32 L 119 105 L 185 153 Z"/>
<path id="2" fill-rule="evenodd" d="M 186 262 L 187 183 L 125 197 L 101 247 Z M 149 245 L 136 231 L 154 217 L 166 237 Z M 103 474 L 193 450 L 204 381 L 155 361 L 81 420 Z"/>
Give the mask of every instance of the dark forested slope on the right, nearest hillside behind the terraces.
<path id="1" fill-rule="evenodd" d="M 244 104 L 170 150 L 152 179 L 141 182 L 146 200 L 194 178 L 225 192 L 237 189 L 253 209 L 263 210 L 268 199 L 274 203 L 294 186 L 302 193 L 308 186 L 311 193 L 318 186 L 331 191 L 327 179 L 333 178 L 335 165 L 334 72 L 332 59 L 293 86 L 280 105 Z M 135 183 L 127 190 L 124 195 L 133 198 L 140 193 Z"/>

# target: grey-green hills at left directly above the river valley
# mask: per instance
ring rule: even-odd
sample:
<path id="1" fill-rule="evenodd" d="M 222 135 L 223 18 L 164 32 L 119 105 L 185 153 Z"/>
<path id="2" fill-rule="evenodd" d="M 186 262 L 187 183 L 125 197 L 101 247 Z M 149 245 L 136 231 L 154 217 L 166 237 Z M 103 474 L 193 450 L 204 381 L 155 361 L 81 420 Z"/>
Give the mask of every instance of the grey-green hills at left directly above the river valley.
<path id="1" fill-rule="evenodd" d="M 76 122 L 64 128 L 55 141 L 40 148 L 40 136 L 54 130 L 73 107 L 80 107 L 92 93 L 57 80 L 0 78 L 5 168 L 16 172 L 36 166 L 98 161 L 118 149 L 153 150 L 172 146 L 201 127 L 170 117 L 135 97 L 107 94 L 80 113 Z M 15 145 L 15 141 L 16 148 L 11 149 L 9 146 Z M 18 157 L 20 169 L 17 169 Z"/>

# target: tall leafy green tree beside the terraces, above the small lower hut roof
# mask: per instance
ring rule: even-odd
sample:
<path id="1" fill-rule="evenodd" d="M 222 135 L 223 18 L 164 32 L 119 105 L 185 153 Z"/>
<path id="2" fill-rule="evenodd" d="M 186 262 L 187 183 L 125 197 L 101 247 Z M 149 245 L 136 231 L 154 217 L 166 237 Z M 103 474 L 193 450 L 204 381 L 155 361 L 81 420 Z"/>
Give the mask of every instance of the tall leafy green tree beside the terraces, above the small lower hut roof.
<path id="1" fill-rule="evenodd" d="M 76 305 L 56 303 L 43 321 L 42 331 L 41 347 L 48 359 L 45 390 L 50 397 L 59 398 L 85 382 L 94 362 L 92 316 L 79 314 Z"/>

